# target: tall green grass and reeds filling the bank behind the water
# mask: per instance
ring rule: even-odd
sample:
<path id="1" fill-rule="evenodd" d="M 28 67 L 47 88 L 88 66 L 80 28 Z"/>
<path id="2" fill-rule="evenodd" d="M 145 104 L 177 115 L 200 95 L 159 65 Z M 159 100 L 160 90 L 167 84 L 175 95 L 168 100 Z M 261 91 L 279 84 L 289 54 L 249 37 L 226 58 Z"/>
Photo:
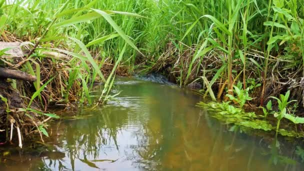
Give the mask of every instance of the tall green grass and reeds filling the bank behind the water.
<path id="1" fill-rule="evenodd" d="M 3 1 L 6 15 L 0 18 L 0 28 L 34 41 L 64 2 Z M 270 77 L 279 82 L 304 76 L 303 4 L 302 0 L 70 0 L 44 40 L 56 46 L 65 42 L 74 53 L 85 52 L 79 43 L 62 39 L 74 37 L 94 61 L 120 62 L 129 72 L 164 71 L 180 85 L 203 76 L 209 82 L 207 91 L 216 89 L 215 82 L 226 82 L 218 91 L 231 94 L 235 81 L 246 88 L 247 78 L 255 78 L 262 83 L 263 104 Z M 102 78 L 97 66 L 93 68 L 92 73 Z"/>

